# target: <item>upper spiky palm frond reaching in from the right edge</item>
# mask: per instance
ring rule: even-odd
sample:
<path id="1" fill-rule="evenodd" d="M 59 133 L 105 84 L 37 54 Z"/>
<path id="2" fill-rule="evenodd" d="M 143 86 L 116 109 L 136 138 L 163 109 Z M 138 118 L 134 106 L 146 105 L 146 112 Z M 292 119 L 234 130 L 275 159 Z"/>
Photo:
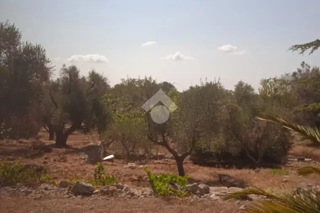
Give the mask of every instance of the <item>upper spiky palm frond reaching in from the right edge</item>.
<path id="1" fill-rule="evenodd" d="M 320 145 L 320 130 L 317 128 L 312 128 L 310 126 L 301 126 L 298 124 L 292 124 L 284 121 L 281 118 L 277 118 L 274 116 L 263 116 L 263 118 L 257 117 L 257 119 L 264 120 L 264 121 L 271 121 L 271 122 L 280 124 L 281 126 L 299 134 L 302 137 L 302 139 L 304 140 L 308 139 L 312 141 L 314 145 Z"/>

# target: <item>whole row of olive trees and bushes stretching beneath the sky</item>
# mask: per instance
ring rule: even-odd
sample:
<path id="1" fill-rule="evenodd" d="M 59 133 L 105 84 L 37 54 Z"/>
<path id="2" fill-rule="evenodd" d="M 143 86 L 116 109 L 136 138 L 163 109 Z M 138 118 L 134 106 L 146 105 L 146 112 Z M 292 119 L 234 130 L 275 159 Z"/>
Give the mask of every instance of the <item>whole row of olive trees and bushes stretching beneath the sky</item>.
<path id="1" fill-rule="evenodd" d="M 258 92 L 242 81 L 227 90 L 218 80 L 179 92 L 151 77 L 122 79 L 110 87 L 94 70 L 84 77 L 75 65 L 63 65 L 53 79 L 53 69 L 42 46 L 22 42 L 14 24 L 0 23 L 1 138 L 34 137 L 44 127 L 49 139 L 63 147 L 72 132 L 94 131 L 104 148 L 119 148 L 127 158 L 163 146 L 184 175 L 189 155 L 202 164 L 279 162 L 291 147 L 290 134 L 256 116 L 280 115 L 320 127 L 320 82 L 314 80 L 320 70 L 304 62 L 293 73 L 262 79 Z M 163 124 L 141 108 L 159 89 L 178 106 Z"/>

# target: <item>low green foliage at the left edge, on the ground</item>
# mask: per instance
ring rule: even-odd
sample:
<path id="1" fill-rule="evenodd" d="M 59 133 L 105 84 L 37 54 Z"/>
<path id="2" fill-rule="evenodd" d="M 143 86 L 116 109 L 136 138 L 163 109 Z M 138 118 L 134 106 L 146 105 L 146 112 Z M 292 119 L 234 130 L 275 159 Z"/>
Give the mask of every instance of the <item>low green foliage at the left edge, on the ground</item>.
<path id="1" fill-rule="evenodd" d="M 44 172 L 36 172 L 35 167 L 25 167 L 19 160 L 9 164 L 0 161 L 0 184 L 12 186 L 17 183 L 48 183 L 52 177 Z"/>

